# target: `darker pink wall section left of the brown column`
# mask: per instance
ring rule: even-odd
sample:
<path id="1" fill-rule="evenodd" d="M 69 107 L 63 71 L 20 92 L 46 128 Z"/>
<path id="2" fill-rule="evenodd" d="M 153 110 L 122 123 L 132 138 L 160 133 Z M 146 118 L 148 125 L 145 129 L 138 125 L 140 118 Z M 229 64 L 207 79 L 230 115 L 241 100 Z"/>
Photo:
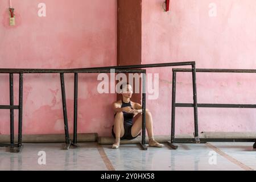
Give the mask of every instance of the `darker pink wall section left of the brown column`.
<path id="1" fill-rule="evenodd" d="M 46 17 L 38 4 L 46 3 Z M 13 0 L 16 26 L 9 26 L 9 0 L 0 5 L 0 68 L 79 68 L 116 65 L 115 0 Z M 0 75 L 0 104 L 9 104 L 9 76 Z M 73 112 L 73 75 L 67 75 Z M 18 103 L 15 77 L 15 103 Z M 97 93 L 97 75 L 79 77 L 79 133 L 110 133 L 116 95 Z M 64 133 L 59 75 L 24 76 L 24 134 Z M 17 118 L 17 114 L 15 115 Z M 0 134 L 9 134 L 9 111 L 0 110 Z M 73 113 L 68 113 L 72 131 Z M 17 120 L 16 120 L 17 122 Z"/>

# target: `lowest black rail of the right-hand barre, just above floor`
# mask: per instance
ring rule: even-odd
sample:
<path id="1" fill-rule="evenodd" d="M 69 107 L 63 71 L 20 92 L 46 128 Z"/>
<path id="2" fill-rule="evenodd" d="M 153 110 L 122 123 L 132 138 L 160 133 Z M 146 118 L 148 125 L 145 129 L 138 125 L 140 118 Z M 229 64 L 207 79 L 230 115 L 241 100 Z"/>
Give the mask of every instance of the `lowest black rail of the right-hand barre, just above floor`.
<path id="1" fill-rule="evenodd" d="M 252 138 L 200 138 L 201 143 L 205 142 L 255 142 Z M 175 138 L 174 143 L 195 143 L 195 138 Z"/>

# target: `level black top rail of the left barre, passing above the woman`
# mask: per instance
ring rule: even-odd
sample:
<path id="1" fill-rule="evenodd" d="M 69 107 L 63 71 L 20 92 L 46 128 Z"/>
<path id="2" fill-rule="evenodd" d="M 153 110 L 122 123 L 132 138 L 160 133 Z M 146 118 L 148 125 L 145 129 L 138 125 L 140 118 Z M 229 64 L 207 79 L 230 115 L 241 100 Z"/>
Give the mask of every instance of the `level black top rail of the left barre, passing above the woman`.
<path id="1" fill-rule="evenodd" d="M 110 69 L 0 69 L 0 73 L 110 73 Z M 146 73 L 145 69 L 117 69 L 116 73 Z"/>

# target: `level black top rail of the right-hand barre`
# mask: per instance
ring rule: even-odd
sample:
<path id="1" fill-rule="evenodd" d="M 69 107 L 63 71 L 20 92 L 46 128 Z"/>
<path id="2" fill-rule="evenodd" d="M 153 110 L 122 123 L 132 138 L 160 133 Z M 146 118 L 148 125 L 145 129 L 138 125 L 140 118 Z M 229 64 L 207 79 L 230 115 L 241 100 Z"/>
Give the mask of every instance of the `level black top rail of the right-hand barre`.
<path id="1" fill-rule="evenodd" d="M 174 72 L 192 72 L 189 68 L 174 68 Z M 256 69 L 196 69 L 196 72 L 204 73 L 256 73 Z"/>

